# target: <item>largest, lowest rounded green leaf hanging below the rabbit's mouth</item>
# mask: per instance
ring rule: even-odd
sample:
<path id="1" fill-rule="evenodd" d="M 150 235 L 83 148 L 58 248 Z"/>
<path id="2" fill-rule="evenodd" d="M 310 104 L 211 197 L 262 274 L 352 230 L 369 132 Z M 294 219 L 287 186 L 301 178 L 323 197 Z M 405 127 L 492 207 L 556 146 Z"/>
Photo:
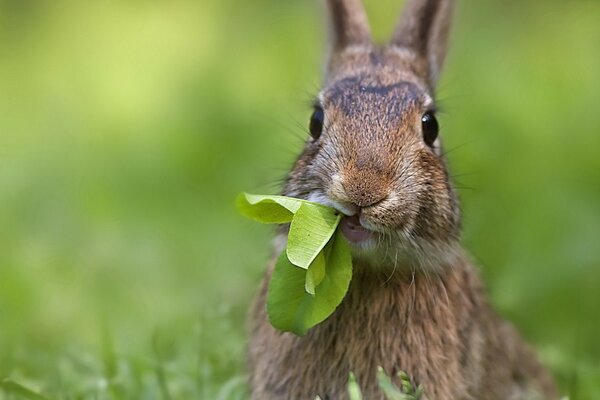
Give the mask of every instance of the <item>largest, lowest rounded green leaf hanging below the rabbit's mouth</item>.
<path id="1" fill-rule="evenodd" d="M 302 336 L 341 303 L 352 279 L 350 249 L 338 233 L 324 252 L 325 276 L 314 296 L 305 290 L 306 271 L 292 264 L 285 252 L 279 256 L 267 295 L 267 314 L 275 328 Z"/>

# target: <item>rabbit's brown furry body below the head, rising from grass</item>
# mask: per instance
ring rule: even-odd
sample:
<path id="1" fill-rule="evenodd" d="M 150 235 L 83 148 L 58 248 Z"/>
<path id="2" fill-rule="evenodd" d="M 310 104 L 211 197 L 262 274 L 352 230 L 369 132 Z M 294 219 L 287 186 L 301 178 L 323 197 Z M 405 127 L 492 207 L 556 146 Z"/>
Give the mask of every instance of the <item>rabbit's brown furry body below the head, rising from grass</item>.
<path id="1" fill-rule="evenodd" d="M 252 316 L 253 399 L 348 399 L 350 371 L 365 400 L 384 399 L 379 366 L 389 376 L 408 372 L 428 400 L 557 398 L 535 355 L 488 306 L 473 267 L 464 259 L 448 267 L 413 277 L 355 265 L 342 304 L 304 337 L 269 324 L 268 273 Z"/>

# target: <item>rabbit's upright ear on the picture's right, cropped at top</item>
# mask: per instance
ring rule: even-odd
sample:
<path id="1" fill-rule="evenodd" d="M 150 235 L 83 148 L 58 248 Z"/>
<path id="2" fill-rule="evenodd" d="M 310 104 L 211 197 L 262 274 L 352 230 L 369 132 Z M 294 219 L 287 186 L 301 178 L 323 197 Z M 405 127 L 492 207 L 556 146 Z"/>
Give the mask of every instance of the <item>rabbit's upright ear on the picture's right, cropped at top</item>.
<path id="1" fill-rule="evenodd" d="M 426 62 L 423 77 L 432 88 L 446 58 L 453 9 L 454 0 L 407 0 L 391 41 Z"/>

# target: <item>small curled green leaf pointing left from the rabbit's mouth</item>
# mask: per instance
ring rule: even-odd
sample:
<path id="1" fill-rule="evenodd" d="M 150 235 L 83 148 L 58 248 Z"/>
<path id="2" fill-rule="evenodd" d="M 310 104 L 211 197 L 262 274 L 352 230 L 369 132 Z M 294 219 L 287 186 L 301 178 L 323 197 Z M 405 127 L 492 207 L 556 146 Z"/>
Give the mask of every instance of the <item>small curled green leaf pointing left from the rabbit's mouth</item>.
<path id="1" fill-rule="evenodd" d="M 238 210 L 248 218 L 264 224 L 291 222 L 304 200 L 284 196 L 242 193 L 236 199 Z"/>

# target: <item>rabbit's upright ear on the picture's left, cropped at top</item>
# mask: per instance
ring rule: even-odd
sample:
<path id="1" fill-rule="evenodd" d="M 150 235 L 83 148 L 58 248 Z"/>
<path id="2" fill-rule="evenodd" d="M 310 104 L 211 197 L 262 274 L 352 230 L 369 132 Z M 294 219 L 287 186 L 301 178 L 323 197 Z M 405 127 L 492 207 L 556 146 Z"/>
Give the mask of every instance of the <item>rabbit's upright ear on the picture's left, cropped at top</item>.
<path id="1" fill-rule="evenodd" d="M 361 0 L 327 0 L 327 8 L 331 47 L 328 74 L 332 74 L 345 50 L 371 45 L 371 32 Z"/>

